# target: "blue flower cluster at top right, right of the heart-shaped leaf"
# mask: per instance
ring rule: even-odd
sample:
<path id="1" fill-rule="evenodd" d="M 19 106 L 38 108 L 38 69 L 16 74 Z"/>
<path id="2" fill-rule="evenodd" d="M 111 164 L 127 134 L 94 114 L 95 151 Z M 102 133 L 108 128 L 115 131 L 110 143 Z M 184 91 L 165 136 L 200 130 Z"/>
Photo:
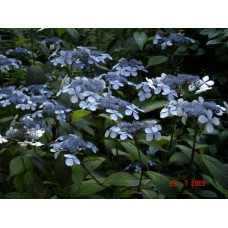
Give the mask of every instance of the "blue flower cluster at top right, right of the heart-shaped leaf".
<path id="1" fill-rule="evenodd" d="M 165 50 L 167 46 L 172 46 L 173 44 L 183 45 L 190 43 L 195 43 L 195 40 L 184 36 L 182 33 L 171 33 L 167 37 L 155 34 L 153 40 L 153 44 L 160 46 L 162 50 Z"/>

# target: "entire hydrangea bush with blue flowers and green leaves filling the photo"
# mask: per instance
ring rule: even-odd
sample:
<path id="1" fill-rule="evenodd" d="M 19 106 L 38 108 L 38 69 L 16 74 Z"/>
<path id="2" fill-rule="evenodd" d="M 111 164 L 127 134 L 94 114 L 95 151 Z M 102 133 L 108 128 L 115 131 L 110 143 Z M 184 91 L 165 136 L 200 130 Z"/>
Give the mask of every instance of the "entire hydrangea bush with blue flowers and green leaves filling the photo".
<path id="1" fill-rule="evenodd" d="M 1 198 L 228 197 L 226 29 L 0 35 Z"/>

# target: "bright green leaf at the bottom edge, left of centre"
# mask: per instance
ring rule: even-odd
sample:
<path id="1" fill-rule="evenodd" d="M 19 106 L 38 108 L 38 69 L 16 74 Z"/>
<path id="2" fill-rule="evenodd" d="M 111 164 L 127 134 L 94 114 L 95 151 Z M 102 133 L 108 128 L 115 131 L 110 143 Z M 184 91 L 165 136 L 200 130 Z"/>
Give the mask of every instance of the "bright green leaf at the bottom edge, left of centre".
<path id="1" fill-rule="evenodd" d="M 95 180 L 91 179 L 88 181 L 83 181 L 80 185 L 80 189 L 76 193 L 76 197 L 88 197 L 96 192 L 100 192 L 105 189 L 103 186 L 99 185 Z"/>

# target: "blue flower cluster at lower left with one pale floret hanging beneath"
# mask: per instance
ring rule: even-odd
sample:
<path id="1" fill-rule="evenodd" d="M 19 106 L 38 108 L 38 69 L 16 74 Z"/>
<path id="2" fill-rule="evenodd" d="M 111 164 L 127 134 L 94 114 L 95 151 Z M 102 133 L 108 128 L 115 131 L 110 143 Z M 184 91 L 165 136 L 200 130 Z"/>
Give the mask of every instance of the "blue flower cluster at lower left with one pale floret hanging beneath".
<path id="1" fill-rule="evenodd" d="M 50 151 L 55 153 L 55 158 L 58 157 L 61 151 L 69 152 L 69 154 L 64 154 L 64 157 L 66 158 L 65 164 L 67 166 L 72 166 L 74 163 L 78 165 L 80 164 L 80 160 L 76 157 L 80 151 L 90 149 L 96 153 L 98 150 L 92 143 L 86 142 L 72 134 L 68 136 L 60 136 L 51 147 L 52 149 Z"/>

